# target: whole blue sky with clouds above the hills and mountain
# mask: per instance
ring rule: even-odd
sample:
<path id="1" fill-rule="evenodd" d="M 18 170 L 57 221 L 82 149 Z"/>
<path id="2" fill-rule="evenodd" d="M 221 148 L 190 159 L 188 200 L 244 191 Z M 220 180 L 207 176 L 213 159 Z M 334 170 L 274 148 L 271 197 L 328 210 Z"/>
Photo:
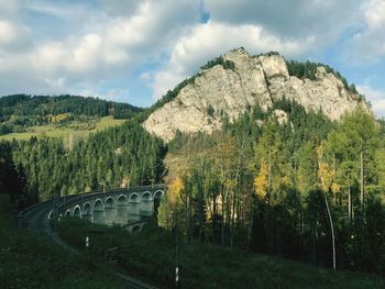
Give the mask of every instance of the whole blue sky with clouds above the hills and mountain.
<path id="1" fill-rule="evenodd" d="M 385 116 L 385 0 L 0 0 L 0 96 L 148 107 L 240 46 L 327 64 Z"/>

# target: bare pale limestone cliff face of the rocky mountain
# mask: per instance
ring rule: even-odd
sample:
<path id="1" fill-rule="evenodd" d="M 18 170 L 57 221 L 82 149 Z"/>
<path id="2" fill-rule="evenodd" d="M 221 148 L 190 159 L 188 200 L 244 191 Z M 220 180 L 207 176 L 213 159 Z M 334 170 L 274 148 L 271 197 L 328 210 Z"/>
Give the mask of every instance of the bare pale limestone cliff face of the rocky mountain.
<path id="1" fill-rule="evenodd" d="M 249 105 L 267 109 L 283 97 L 307 110 L 322 110 L 330 120 L 339 120 L 361 103 L 359 96 L 346 90 L 339 78 L 321 66 L 317 68 L 316 80 L 302 80 L 289 76 L 280 55 L 252 57 L 238 48 L 224 54 L 223 59 L 231 60 L 234 69 L 216 65 L 201 70 L 175 99 L 153 112 L 144 127 L 169 141 L 177 130 L 210 133 L 221 127 L 224 112 L 233 121 Z"/>

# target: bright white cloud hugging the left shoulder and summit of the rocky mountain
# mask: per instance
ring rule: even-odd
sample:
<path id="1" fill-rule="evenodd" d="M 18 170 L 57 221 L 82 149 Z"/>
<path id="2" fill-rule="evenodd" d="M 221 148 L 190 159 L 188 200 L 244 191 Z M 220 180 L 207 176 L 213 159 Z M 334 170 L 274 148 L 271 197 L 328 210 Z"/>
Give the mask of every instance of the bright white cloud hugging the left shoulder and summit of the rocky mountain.
<path id="1" fill-rule="evenodd" d="M 310 49 L 312 42 L 312 37 L 282 38 L 265 32 L 260 25 L 231 25 L 211 21 L 197 24 L 176 41 L 168 63 L 155 74 L 153 97 L 163 96 L 207 60 L 234 47 L 243 46 L 251 54 L 278 51 L 286 56 L 295 56 Z"/>

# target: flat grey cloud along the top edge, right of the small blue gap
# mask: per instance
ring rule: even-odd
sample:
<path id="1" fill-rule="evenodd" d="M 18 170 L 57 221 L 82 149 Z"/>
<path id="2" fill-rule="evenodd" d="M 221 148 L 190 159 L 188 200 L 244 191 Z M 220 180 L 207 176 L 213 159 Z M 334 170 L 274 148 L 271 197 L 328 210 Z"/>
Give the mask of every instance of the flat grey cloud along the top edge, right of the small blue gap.
<path id="1" fill-rule="evenodd" d="M 205 0 L 212 21 L 255 24 L 282 37 L 316 35 L 318 45 L 356 21 L 358 0 Z M 327 33 L 326 33 L 327 32 Z"/>

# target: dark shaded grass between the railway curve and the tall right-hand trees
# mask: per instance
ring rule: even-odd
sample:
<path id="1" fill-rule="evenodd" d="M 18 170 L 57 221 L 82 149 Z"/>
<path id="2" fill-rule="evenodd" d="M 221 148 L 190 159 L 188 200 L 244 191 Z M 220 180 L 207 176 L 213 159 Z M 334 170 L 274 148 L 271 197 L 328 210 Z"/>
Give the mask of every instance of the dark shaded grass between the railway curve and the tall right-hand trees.
<path id="1" fill-rule="evenodd" d="M 61 223 L 59 234 L 80 249 L 84 247 L 82 236 L 88 234 L 94 255 L 100 255 L 97 253 L 106 252 L 106 248 L 120 247 L 114 257 L 118 266 L 161 288 L 173 288 L 175 237 L 168 231 L 158 229 L 155 222 L 133 236 L 119 227 L 107 229 L 79 220 L 67 220 Z M 383 279 L 372 275 L 336 273 L 278 257 L 208 244 L 180 244 L 179 260 L 183 288 L 385 287 Z"/>

